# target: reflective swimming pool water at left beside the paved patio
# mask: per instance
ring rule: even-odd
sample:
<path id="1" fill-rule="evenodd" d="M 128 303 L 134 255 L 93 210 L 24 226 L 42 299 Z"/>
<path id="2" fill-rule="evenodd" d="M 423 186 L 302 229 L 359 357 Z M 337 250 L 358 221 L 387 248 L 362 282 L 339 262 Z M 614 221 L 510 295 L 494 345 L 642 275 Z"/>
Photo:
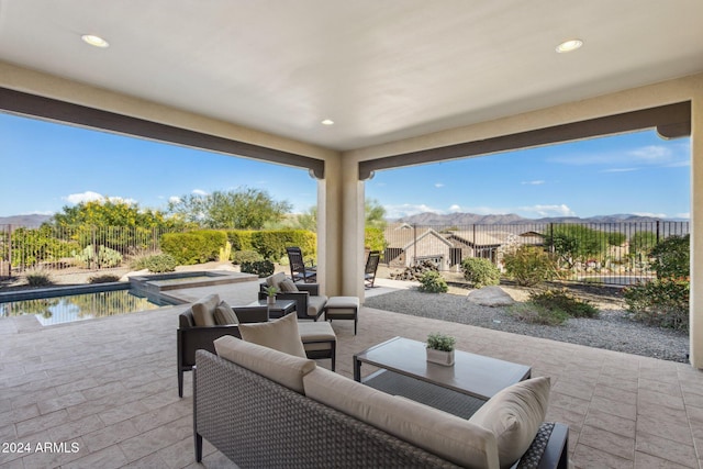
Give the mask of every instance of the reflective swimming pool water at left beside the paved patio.
<path id="1" fill-rule="evenodd" d="M 172 303 L 157 298 L 138 297 L 126 289 L 97 291 L 0 303 L 0 317 L 34 314 L 46 326 L 155 310 L 167 304 Z"/>

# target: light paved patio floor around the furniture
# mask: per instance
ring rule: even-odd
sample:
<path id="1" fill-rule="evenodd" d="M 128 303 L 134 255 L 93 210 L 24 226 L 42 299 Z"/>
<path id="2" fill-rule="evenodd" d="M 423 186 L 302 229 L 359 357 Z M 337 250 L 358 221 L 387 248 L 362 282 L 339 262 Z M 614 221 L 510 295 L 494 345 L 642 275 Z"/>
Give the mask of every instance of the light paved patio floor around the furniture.
<path id="1" fill-rule="evenodd" d="M 180 294 L 194 301 L 216 291 L 245 304 L 256 289 L 246 282 Z M 51 327 L 29 316 L 0 319 L 0 467 L 201 467 L 191 373 L 182 399 L 176 381 L 177 315 L 185 308 Z M 347 377 L 354 353 L 434 331 L 455 335 L 461 350 L 551 377 L 547 417 L 569 425 L 573 467 L 703 467 L 703 372 L 688 365 L 372 309 L 360 311 L 356 336 L 352 321 L 333 327 L 337 372 Z M 44 443 L 66 445 L 37 451 Z M 205 454 L 204 467 L 233 467 L 211 446 Z"/>

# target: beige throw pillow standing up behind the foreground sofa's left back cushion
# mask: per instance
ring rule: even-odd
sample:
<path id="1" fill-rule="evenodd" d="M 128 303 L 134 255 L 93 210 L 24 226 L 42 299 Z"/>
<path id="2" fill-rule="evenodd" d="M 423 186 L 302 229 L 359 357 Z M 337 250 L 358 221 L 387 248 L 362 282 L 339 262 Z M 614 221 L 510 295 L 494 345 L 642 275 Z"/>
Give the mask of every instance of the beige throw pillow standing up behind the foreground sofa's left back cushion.
<path id="1" fill-rule="evenodd" d="M 303 343 L 298 332 L 298 317 L 287 314 L 268 323 L 239 324 L 242 339 L 274 348 L 297 357 L 306 358 Z"/>

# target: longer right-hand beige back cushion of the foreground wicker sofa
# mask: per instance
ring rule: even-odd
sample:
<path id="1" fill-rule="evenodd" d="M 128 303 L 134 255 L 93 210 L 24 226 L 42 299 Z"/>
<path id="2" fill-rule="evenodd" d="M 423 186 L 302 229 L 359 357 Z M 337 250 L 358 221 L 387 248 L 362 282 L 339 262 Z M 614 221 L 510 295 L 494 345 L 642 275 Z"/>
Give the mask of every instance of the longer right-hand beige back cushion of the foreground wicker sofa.
<path id="1" fill-rule="evenodd" d="M 377 391 L 324 368 L 303 377 L 305 395 L 468 468 L 498 469 L 495 436 L 464 418 Z"/>

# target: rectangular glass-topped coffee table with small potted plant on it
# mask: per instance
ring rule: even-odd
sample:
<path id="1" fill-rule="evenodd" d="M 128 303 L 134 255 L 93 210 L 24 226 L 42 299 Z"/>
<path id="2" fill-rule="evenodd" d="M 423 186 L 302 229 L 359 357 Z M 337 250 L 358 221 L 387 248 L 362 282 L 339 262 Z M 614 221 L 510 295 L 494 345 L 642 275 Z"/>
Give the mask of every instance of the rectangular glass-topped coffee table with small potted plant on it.
<path id="1" fill-rule="evenodd" d="M 361 379 L 361 365 L 378 371 Z M 500 390 L 528 379 L 525 365 L 455 351 L 455 364 L 427 362 L 425 344 L 393 337 L 354 355 L 354 379 L 390 394 L 403 395 L 465 418 Z"/>

